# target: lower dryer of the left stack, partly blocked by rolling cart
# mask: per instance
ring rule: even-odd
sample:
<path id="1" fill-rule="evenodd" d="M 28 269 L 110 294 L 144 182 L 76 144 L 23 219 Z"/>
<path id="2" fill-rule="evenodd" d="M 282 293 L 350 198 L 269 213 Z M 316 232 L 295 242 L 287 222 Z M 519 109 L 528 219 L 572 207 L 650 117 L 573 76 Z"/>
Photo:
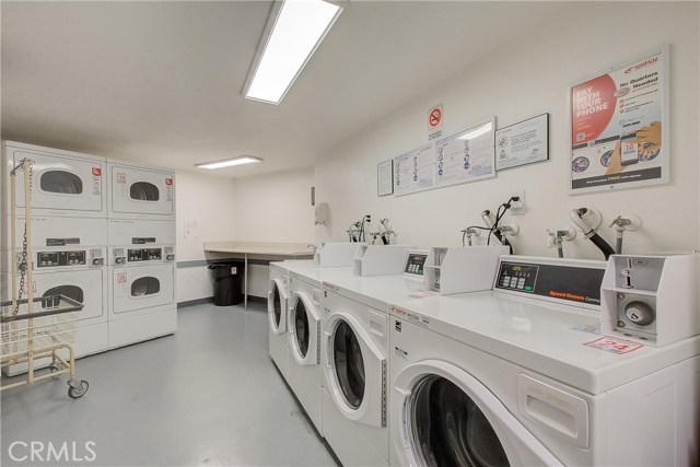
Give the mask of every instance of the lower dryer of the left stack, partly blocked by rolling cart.
<path id="1" fill-rule="evenodd" d="M 21 238 L 24 220 L 19 221 L 16 235 Z M 62 294 L 84 305 L 73 345 L 77 358 L 107 350 L 106 220 L 32 218 L 31 226 L 32 257 L 27 260 L 33 266 L 34 296 Z M 18 261 L 21 253 L 15 252 Z M 2 265 L 3 301 L 12 296 L 11 261 L 11 255 L 7 255 Z M 27 280 L 25 277 L 23 299 L 28 295 Z M 15 289 L 20 293 L 19 279 Z M 12 365 L 7 373 L 23 371 L 26 365 Z"/>

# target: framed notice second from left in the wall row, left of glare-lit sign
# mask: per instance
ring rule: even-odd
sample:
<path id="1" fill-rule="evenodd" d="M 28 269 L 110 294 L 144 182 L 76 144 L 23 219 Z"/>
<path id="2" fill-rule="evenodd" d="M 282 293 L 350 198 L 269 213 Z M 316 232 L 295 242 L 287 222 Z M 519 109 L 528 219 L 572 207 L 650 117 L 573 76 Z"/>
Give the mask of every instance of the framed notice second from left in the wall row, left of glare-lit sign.
<path id="1" fill-rule="evenodd" d="M 394 157 L 394 194 L 423 191 L 435 186 L 433 144 Z"/>

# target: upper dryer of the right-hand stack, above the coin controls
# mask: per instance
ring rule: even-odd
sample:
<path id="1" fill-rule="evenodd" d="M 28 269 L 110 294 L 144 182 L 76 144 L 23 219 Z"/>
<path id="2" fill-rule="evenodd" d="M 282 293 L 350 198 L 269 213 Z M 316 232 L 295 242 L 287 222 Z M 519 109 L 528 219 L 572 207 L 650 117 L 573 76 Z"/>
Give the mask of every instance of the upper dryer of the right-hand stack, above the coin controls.
<path id="1" fill-rule="evenodd" d="M 175 173 L 107 162 L 110 219 L 175 220 Z"/>

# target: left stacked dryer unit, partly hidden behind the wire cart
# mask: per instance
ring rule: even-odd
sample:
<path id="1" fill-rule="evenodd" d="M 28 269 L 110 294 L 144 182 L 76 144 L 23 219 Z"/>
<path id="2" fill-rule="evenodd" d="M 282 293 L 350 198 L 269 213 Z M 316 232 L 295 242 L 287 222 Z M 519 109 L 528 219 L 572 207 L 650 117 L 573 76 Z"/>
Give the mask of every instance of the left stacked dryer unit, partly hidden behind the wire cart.
<path id="1" fill-rule="evenodd" d="M 11 255 L 21 255 L 24 218 L 16 219 L 18 250 L 11 252 L 10 171 L 34 161 L 31 177 L 31 241 L 34 296 L 60 293 L 84 304 L 78 324 L 75 357 L 107 349 L 106 161 L 12 141 L 2 143 L 2 300 L 11 296 Z M 16 178 L 16 212 L 24 213 L 24 180 Z M 27 288 L 23 297 L 26 297 Z M 18 291 L 19 292 L 19 291 Z M 48 360 L 47 360 L 48 364 Z M 12 365 L 8 374 L 26 371 Z"/>

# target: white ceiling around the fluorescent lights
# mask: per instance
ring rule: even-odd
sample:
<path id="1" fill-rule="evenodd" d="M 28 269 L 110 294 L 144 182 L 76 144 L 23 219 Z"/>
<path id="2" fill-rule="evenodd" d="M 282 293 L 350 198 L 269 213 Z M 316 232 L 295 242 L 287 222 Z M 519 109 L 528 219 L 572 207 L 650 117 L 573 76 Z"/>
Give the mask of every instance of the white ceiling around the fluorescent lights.
<path id="1" fill-rule="evenodd" d="M 2 1 L 2 138 L 151 165 L 312 165 L 559 2 L 351 1 L 287 94 L 242 97 L 270 1 Z"/>

